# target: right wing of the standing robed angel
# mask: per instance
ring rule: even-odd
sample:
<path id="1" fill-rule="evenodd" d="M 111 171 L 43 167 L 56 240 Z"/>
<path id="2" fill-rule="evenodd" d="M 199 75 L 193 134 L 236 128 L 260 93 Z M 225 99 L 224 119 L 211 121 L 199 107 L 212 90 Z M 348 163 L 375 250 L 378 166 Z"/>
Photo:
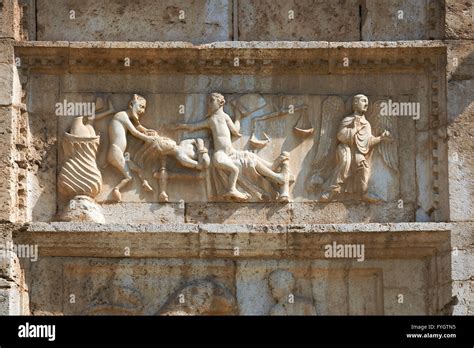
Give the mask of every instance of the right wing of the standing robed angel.
<path id="1" fill-rule="evenodd" d="M 372 124 L 373 133 L 380 135 L 384 130 L 388 130 L 392 135 L 392 141 L 382 141 L 377 147 L 377 151 L 382 156 L 384 163 L 390 169 L 398 172 L 398 124 L 394 116 L 382 116 L 380 110 L 387 100 L 379 99 L 372 104 L 368 112 L 369 122 Z"/>

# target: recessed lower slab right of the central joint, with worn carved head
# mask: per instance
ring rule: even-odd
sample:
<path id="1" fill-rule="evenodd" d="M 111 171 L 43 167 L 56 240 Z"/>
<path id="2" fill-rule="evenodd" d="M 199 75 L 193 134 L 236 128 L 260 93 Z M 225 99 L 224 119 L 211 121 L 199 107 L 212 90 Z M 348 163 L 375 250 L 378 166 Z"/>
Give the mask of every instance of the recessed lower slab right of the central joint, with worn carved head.
<path id="1" fill-rule="evenodd" d="M 327 268 L 325 261 L 268 261 L 258 265 L 243 261 L 237 271 L 241 314 L 384 314 L 383 269 L 344 269 L 334 263 Z M 252 305 L 253 296 L 262 291 L 267 296 Z"/>

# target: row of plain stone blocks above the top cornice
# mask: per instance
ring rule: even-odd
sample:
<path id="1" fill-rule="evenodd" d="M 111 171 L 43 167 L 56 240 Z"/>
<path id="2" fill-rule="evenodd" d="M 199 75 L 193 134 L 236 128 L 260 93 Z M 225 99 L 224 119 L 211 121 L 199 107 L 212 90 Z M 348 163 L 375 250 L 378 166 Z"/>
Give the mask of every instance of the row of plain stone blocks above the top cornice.
<path id="1" fill-rule="evenodd" d="M 459 28 L 457 16 L 464 13 L 462 20 L 468 23 L 469 4 L 448 3 L 447 23 L 452 22 L 454 27 L 449 29 L 468 33 L 467 29 Z M 443 36 L 442 4 L 434 0 L 392 0 L 383 5 L 375 0 L 160 3 L 141 0 L 132 6 L 114 1 L 99 4 L 41 0 L 37 2 L 38 23 L 35 24 L 39 40 L 212 42 L 233 37 L 242 41 L 426 40 Z M 30 37 L 34 33 L 31 7 L 25 10 L 29 19 L 25 31 Z M 237 8 L 236 14 L 233 8 Z M 75 11 L 75 19 L 70 19 L 70 11 Z M 184 11 L 184 18 L 180 19 L 180 11 Z M 403 11 L 402 19 L 398 19 L 398 11 Z M 131 19 L 125 22 L 126 15 Z"/>

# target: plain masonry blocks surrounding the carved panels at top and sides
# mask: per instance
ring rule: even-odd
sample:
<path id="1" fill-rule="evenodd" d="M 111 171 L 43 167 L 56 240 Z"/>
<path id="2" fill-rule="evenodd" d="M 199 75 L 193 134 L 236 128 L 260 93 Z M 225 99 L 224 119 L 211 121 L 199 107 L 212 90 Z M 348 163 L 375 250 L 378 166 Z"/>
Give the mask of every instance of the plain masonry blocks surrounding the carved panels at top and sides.
<path id="1" fill-rule="evenodd" d="M 449 181 L 449 199 L 440 204 L 448 211 L 442 221 L 449 223 L 452 249 L 445 269 L 451 278 L 445 280 L 451 285 L 445 313 L 472 315 L 473 17 L 472 2 L 457 0 L 0 1 L 0 248 L 13 242 L 13 231 L 21 234 L 28 220 L 27 177 L 38 174 L 52 151 L 48 139 L 34 138 L 30 131 L 40 127 L 28 120 L 21 88 L 25 81 L 15 61 L 15 45 L 21 41 L 442 40 L 447 46 L 448 128 L 436 127 L 448 148 L 448 165 L 439 171 L 439 180 L 446 176 Z M 28 313 L 18 259 L 8 255 L 8 262 L 0 263 L 0 313 Z"/>

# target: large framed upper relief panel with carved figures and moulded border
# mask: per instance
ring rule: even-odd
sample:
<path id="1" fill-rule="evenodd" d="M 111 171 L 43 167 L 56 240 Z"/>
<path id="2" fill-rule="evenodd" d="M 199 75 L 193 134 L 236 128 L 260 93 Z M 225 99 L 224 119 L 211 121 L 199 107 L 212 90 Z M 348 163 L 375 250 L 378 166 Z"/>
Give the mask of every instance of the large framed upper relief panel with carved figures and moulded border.
<path id="1" fill-rule="evenodd" d="M 102 189 L 91 199 L 107 223 L 446 220 L 441 47 L 403 46 L 397 58 L 391 46 L 305 43 L 312 49 L 286 56 L 282 44 L 248 59 L 257 49 L 247 46 L 232 48 L 248 54 L 237 67 L 225 50 L 150 46 L 140 48 L 146 57 L 131 49 L 135 63 L 126 69 L 105 46 L 19 47 L 34 71 L 26 82 L 34 139 L 46 133 L 58 147 L 28 178 L 30 220 L 68 220 L 71 198 L 58 178 L 71 160 L 59 146 L 74 117 L 99 137 Z M 41 59 L 53 49 L 60 60 Z M 367 97 L 362 112 L 358 94 Z M 113 111 L 56 117 L 55 103 L 66 100 Z M 406 103 L 416 112 L 405 113 Z"/>

